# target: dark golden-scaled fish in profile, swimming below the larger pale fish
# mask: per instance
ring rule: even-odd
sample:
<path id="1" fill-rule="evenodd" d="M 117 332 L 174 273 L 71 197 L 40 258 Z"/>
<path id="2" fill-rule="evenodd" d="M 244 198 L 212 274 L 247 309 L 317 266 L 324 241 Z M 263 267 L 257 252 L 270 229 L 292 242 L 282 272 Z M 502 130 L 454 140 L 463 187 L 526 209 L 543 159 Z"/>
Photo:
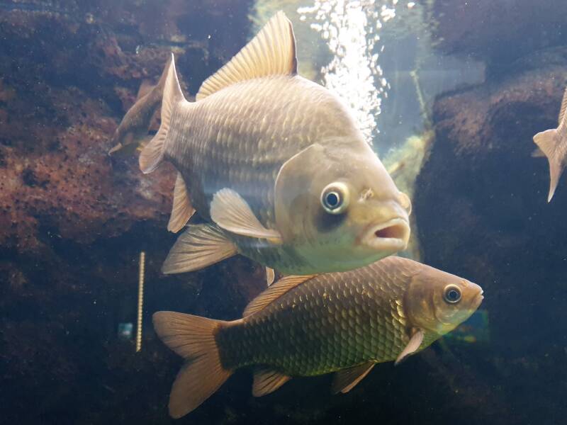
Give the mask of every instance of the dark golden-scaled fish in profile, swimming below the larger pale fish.
<path id="1" fill-rule="evenodd" d="M 332 372 L 333 392 L 348 392 L 376 363 L 397 364 L 464 322 L 482 294 L 463 278 L 388 257 L 343 273 L 287 276 L 233 322 L 157 312 L 157 334 L 186 359 L 169 413 L 196 409 L 246 366 L 255 367 L 256 397 L 294 376 Z"/>

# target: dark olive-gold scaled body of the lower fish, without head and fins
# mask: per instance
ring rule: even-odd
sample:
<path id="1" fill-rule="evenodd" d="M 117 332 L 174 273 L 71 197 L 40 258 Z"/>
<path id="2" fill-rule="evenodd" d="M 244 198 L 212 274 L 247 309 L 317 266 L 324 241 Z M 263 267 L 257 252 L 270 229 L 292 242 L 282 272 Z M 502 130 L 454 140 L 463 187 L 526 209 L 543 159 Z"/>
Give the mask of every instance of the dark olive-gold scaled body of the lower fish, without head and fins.
<path id="1" fill-rule="evenodd" d="M 394 360 L 409 341 L 396 302 L 407 283 L 380 271 L 376 263 L 311 278 L 242 324 L 222 329 L 223 367 L 267 364 L 288 375 L 320 375 L 369 359 Z"/>

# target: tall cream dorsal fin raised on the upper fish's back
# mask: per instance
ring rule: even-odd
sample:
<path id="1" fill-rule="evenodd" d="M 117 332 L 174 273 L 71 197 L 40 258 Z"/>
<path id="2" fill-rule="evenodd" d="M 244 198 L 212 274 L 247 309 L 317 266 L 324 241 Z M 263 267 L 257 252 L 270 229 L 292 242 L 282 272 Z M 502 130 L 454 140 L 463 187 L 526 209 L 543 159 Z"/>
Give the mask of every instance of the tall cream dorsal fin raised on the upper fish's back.
<path id="1" fill-rule="evenodd" d="M 287 74 L 297 74 L 296 38 L 286 14 L 279 11 L 230 62 L 203 82 L 196 100 L 239 81 Z"/>

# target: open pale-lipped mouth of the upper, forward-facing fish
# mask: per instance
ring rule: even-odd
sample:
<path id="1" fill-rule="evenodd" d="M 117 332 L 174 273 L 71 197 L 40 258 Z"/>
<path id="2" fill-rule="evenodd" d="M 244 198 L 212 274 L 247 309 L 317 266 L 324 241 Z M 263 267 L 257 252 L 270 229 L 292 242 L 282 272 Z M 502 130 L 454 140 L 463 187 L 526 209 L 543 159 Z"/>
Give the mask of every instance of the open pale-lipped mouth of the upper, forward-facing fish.
<path id="1" fill-rule="evenodd" d="M 408 247 L 410 226 L 406 220 L 395 218 L 380 225 L 374 225 L 366 230 L 362 244 L 380 251 L 403 251 Z"/>

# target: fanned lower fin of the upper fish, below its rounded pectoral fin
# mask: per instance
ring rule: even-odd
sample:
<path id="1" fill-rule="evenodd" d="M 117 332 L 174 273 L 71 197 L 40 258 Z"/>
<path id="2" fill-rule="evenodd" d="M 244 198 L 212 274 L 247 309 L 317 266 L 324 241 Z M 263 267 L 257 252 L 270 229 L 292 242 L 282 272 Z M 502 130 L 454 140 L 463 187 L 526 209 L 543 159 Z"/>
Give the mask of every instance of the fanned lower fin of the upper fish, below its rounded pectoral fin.
<path id="1" fill-rule="evenodd" d="M 200 270 L 237 254 L 235 244 L 215 225 L 191 225 L 181 234 L 162 266 L 165 274 Z"/>

